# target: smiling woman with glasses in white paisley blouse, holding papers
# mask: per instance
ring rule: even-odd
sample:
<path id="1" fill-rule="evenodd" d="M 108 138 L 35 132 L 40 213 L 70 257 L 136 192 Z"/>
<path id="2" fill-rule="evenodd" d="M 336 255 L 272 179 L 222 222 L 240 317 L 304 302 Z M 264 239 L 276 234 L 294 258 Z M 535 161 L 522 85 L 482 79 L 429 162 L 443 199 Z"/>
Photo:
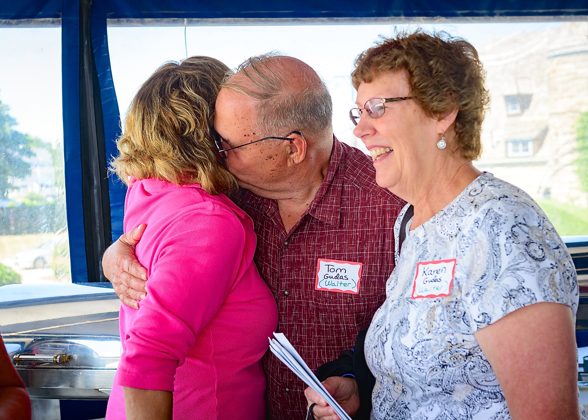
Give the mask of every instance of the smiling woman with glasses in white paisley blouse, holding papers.
<path id="1" fill-rule="evenodd" d="M 359 55 L 352 80 L 350 116 L 377 183 L 410 203 L 363 347 L 370 418 L 584 418 L 572 258 L 526 192 L 472 164 L 488 103 L 476 50 L 447 34 L 398 34 Z M 353 416 L 358 386 L 346 376 L 325 384 Z M 338 418 L 306 395 L 316 418 Z"/>

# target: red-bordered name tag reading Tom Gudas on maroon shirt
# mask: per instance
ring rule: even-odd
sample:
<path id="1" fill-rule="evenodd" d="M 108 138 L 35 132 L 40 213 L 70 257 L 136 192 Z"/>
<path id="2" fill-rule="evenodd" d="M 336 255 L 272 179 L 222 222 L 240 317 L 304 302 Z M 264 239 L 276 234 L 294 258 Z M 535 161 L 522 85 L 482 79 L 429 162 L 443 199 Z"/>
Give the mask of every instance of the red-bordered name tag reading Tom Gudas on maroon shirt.
<path id="1" fill-rule="evenodd" d="M 357 295 L 361 276 L 362 263 L 360 262 L 319 258 L 316 266 L 315 289 Z"/>

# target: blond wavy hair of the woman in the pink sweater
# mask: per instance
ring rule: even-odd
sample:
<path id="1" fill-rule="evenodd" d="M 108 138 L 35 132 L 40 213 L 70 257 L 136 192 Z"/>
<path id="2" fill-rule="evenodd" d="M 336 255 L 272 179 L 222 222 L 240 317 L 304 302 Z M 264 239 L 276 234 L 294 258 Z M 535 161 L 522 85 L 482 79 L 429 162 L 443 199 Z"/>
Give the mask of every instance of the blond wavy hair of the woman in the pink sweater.
<path id="1" fill-rule="evenodd" d="M 111 162 L 125 184 L 156 178 L 176 185 L 200 184 L 209 194 L 230 191 L 235 177 L 220 164 L 212 118 L 229 68 L 205 56 L 168 62 L 143 83 L 125 116 Z"/>

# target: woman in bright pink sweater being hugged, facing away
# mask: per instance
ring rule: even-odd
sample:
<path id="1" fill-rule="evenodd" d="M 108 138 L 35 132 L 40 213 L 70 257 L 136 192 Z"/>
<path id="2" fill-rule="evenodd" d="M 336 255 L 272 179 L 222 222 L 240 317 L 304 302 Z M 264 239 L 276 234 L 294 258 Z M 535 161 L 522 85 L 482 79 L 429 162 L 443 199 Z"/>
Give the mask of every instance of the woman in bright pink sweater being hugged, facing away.
<path id="1" fill-rule="evenodd" d="M 138 309 L 121 306 L 123 353 L 107 420 L 265 419 L 261 358 L 276 303 L 253 263 L 253 222 L 213 151 L 212 113 L 229 69 L 192 57 L 136 94 L 113 169 L 129 185 L 125 232 L 148 270 Z"/>

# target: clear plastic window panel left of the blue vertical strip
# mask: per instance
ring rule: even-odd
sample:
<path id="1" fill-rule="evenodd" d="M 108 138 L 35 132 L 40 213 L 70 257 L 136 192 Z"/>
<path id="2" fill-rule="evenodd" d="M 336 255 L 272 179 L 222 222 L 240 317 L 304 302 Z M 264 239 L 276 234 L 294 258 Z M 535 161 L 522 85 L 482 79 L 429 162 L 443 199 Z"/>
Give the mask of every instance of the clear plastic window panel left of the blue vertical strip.
<path id="1" fill-rule="evenodd" d="M 69 283 L 61 28 L 0 39 L 0 286 Z"/>

